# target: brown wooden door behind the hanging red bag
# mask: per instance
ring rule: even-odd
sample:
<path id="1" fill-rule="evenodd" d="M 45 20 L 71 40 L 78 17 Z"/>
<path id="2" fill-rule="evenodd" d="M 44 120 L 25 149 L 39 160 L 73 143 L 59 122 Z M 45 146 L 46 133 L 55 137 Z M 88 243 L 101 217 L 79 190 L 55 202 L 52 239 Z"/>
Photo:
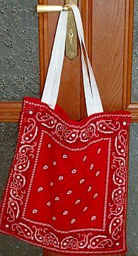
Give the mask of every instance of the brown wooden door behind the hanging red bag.
<path id="1" fill-rule="evenodd" d="M 64 5 L 64 0 L 40 0 L 39 4 Z M 79 0 L 86 48 L 104 110 L 130 110 L 132 122 L 138 122 L 138 102 L 131 101 L 133 6 L 133 0 Z M 58 15 L 39 15 L 40 93 Z M 80 53 L 74 60 L 64 58 L 58 104 L 72 119 L 86 116 Z M 21 102 L 0 102 L 0 121 L 18 122 L 20 111 Z M 44 255 L 58 254 L 44 250 Z"/>

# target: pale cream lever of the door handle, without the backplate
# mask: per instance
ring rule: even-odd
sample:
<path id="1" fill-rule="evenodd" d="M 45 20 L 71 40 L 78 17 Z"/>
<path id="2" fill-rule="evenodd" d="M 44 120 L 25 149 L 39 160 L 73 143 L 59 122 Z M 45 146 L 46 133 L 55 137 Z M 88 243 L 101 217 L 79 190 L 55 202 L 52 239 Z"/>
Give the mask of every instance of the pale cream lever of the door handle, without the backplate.
<path id="1" fill-rule="evenodd" d="M 38 13 L 51 12 L 51 11 L 71 11 L 70 6 L 52 6 L 52 5 L 42 5 L 38 4 L 36 6 Z"/>

